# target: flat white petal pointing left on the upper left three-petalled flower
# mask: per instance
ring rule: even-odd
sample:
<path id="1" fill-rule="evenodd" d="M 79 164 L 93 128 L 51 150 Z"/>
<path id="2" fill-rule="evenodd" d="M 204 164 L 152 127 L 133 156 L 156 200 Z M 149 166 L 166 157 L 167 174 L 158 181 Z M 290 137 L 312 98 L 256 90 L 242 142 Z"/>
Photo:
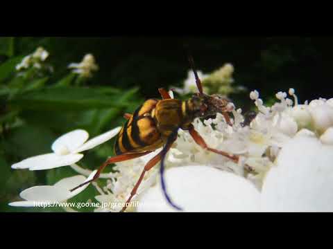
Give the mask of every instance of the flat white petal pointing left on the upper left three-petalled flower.
<path id="1" fill-rule="evenodd" d="M 19 163 L 15 163 L 12 165 L 12 169 L 53 169 L 56 167 L 62 167 L 66 165 L 71 165 L 72 163 L 76 163 L 82 157 L 83 154 L 69 154 L 65 156 L 58 156 L 54 153 L 44 154 L 40 156 L 26 158 Z"/>

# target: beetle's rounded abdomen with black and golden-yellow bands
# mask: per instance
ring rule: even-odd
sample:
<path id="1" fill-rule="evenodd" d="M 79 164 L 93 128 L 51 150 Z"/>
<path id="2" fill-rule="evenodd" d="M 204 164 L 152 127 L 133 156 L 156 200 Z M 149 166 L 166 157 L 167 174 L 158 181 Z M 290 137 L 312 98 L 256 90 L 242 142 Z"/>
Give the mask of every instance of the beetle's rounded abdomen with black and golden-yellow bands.
<path id="1" fill-rule="evenodd" d="M 150 151 L 163 145 L 161 134 L 157 130 L 151 113 L 155 110 L 158 100 L 146 100 L 133 116 L 123 124 L 114 144 L 114 153 Z"/>

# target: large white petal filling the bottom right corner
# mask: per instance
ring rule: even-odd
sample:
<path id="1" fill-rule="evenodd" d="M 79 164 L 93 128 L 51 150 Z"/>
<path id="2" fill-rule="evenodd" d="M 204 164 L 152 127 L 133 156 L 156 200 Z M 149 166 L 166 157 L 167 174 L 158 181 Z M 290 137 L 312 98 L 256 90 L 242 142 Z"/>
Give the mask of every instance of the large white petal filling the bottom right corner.
<path id="1" fill-rule="evenodd" d="M 296 136 L 282 148 L 262 187 L 262 210 L 333 211 L 333 147 Z"/>

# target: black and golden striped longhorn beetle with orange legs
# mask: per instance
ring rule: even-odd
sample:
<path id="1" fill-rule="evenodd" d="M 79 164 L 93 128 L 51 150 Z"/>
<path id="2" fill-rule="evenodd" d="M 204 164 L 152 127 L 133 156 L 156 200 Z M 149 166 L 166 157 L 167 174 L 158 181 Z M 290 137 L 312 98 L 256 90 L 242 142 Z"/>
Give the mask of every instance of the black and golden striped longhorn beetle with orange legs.
<path id="1" fill-rule="evenodd" d="M 194 60 L 191 56 L 189 56 L 189 64 L 194 72 L 198 93 L 194 93 L 189 100 L 182 101 L 171 98 L 169 93 L 161 88 L 158 89 L 158 91 L 162 96 L 162 100 L 148 99 L 138 107 L 133 114 L 126 113 L 124 118 L 126 118 L 127 121 L 123 124 L 114 143 L 115 156 L 108 158 L 108 160 L 99 167 L 92 180 L 78 185 L 71 191 L 89 182 L 95 181 L 99 178 L 103 169 L 111 163 L 138 158 L 163 147 L 160 153 L 151 158 L 145 165 L 142 174 L 139 176 L 132 192 L 130 192 L 130 197 L 121 212 L 126 210 L 131 199 L 136 194 L 144 178 L 144 174 L 159 161 L 161 161 L 160 177 L 164 196 L 173 208 L 181 210 L 171 201 L 169 194 L 167 194 L 163 177 L 164 158 L 167 151 L 169 151 L 173 145 L 173 142 L 176 141 L 179 129 L 189 131 L 194 141 L 203 149 L 225 156 L 236 163 L 238 162 L 239 156 L 209 147 L 205 140 L 203 140 L 200 134 L 194 129 L 193 124 L 191 124 L 195 118 L 207 118 L 216 115 L 216 113 L 221 113 L 225 121 L 232 126 L 228 115 L 228 112 L 232 111 L 232 108 L 230 108 L 230 102 L 221 98 L 219 95 L 206 95 L 203 93 L 203 86 L 198 77 L 198 73 L 196 73 Z"/>

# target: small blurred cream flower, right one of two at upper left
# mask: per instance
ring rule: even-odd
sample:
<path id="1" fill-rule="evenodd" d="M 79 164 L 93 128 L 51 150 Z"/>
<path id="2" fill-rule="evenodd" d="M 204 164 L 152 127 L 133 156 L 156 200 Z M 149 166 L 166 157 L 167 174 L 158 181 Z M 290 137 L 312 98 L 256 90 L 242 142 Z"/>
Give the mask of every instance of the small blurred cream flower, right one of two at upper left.
<path id="1" fill-rule="evenodd" d="M 92 77 L 92 72 L 99 70 L 99 66 L 96 64 L 92 54 L 85 55 L 80 63 L 69 64 L 68 68 L 74 68 L 72 72 L 77 73 L 81 77 Z"/>

